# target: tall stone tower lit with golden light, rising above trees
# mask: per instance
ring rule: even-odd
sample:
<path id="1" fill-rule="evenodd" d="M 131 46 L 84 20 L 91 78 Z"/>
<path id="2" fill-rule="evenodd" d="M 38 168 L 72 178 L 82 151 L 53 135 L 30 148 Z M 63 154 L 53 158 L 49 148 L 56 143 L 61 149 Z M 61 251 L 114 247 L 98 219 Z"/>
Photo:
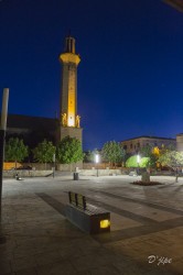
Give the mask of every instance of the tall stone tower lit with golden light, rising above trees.
<path id="1" fill-rule="evenodd" d="M 65 38 L 65 51 L 60 55 L 62 63 L 61 84 L 61 140 L 66 135 L 82 142 L 80 117 L 77 113 L 77 66 L 80 57 L 75 53 L 75 38 Z"/>

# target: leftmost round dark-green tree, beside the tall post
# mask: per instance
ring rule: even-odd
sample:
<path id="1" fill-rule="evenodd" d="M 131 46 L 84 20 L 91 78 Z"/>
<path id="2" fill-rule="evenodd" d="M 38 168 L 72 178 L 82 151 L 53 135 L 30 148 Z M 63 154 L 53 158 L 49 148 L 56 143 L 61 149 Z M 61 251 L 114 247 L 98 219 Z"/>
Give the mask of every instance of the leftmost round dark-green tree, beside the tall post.
<path id="1" fill-rule="evenodd" d="M 24 145 L 23 140 L 11 138 L 6 144 L 6 162 L 22 162 L 29 155 L 28 146 Z"/>

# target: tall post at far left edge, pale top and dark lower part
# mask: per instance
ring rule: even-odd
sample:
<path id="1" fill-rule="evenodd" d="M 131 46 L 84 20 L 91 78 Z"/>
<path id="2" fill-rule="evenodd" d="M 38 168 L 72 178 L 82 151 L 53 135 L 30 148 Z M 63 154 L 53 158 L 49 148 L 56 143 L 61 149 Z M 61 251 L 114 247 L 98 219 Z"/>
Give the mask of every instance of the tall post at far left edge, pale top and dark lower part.
<path id="1" fill-rule="evenodd" d="M 3 178 L 3 160 L 4 160 L 4 143 L 7 130 L 7 112 L 8 112 L 9 89 L 3 89 L 2 112 L 0 124 L 0 217 L 1 217 L 1 197 L 2 197 L 2 178 Z"/>

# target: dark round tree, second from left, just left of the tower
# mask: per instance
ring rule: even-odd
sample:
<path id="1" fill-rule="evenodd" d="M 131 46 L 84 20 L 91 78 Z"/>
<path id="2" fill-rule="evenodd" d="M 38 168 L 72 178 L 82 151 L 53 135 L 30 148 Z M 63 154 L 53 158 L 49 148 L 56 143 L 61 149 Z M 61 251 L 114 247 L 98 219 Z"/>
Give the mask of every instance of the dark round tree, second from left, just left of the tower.
<path id="1" fill-rule="evenodd" d="M 53 155 L 55 154 L 55 146 L 51 141 L 44 140 L 43 142 L 39 143 L 39 145 L 32 151 L 34 158 L 39 163 L 44 163 L 45 164 L 45 169 L 46 169 L 46 164 L 53 162 Z"/>

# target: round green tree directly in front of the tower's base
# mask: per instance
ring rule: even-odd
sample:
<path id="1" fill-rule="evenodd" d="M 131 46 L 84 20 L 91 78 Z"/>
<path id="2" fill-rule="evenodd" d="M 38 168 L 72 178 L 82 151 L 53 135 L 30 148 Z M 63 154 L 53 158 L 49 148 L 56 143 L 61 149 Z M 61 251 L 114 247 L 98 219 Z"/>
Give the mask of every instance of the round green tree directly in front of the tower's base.
<path id="1" fill-rule="evenodd" d="M 60 163 L 72 164 L 83 161 L 82 143 L 76 138 L 65 136 L 56 147 L 56 158 Z"/>

